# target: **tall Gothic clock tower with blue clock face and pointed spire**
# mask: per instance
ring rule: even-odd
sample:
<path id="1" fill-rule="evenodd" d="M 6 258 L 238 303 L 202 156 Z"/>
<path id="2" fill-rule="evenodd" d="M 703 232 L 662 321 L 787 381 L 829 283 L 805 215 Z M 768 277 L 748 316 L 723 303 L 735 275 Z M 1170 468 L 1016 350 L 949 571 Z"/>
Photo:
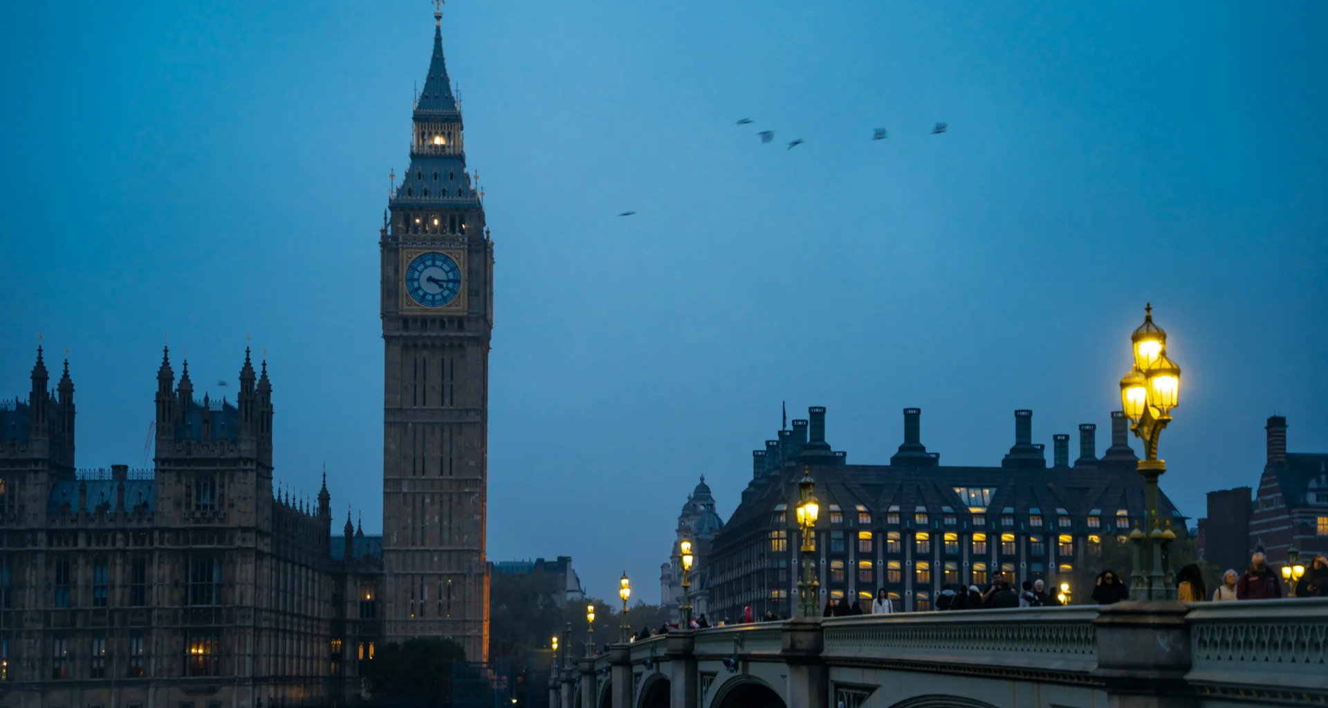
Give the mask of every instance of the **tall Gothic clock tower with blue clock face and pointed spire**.
<path id="1" fill-rule="evenodd" d="M 385 639 L 446 636 L 469 660 L 486 660 L 494 260 L 466 174 L 441 12 L 414 104 L 410 169 L 394 185 L 380 250 Z"/>

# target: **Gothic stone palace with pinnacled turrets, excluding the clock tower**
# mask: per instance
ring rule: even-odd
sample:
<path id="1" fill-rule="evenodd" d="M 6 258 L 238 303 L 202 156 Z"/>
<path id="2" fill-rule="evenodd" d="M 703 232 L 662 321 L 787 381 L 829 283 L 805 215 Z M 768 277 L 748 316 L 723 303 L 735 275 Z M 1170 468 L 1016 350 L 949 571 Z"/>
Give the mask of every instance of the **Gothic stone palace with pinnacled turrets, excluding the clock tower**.
<path id="1" fill-rule="evenodd" d="M 272 484 L 272 385 L 157 373 L 154 469 L 80 470 L 69 364 L 0 401 L 4 705 L 345 705 L 381 644 L 381 543 Z"/>

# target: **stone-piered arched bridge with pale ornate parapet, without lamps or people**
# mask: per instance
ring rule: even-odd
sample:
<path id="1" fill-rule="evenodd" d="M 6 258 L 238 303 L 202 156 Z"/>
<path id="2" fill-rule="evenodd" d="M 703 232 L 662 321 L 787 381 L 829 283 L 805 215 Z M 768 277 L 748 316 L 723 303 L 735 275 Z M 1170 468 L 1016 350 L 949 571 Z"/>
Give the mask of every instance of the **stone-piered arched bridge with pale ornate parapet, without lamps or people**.
<path id="1" fill-rule="evenodd" d="M 564 660 L 560 708 L 1328 705 L 1328 598 L 813 618 Z"/>

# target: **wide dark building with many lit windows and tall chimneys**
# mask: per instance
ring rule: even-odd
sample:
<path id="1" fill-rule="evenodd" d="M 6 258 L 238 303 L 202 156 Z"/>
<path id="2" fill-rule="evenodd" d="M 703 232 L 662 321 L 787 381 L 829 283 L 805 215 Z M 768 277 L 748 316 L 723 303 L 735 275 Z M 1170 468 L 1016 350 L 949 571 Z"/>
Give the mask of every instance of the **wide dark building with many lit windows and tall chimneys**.
<path id="1" fill-rule="evenodd" d="M 815 563 L 818 608 L 830 599 L 867 603 L 884 588 L 902 610 L 928 610 L 943 584 L 984 584 L 1069 575 L 1089 543 L 1130 533 L 1145 518 L 1143 478 L 1129 428 L 1112 413 L 1112 446 L 1096 456 L 1096 426 L 1080 425 L 1073 462 L 1068 434 L 1053 461 L 1032 438 L 1032 412 L 1015 412 L 1015 445 L 999 466 L 942 466 L 920 440 L 922 410 L 904 409 L 904 440 L 888 465 L 849 465 L 826 442 L 825 408 L 793 421 L 764 450 L 742 501 L 713 538 L 706 590 L 713 619 L 745 606 L 793 615 L 799 530 L 797 482 L 809 469 L 821 502 Z M 1186 517 L 1159 493 L 1158 511 L 1178 537 Z"/>

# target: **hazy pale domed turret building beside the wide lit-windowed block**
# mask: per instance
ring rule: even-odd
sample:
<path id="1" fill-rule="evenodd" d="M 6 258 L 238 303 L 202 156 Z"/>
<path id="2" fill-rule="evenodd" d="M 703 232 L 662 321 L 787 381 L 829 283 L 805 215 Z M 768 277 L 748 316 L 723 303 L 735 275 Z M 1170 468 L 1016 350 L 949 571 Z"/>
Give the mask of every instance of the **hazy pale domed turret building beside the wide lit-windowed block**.
<path id="1" fill-rule="evenodd" d="M 687 503 L 677 515 L 673 531 L 673 547 L 669 561 L 660 563 L 660 604 L 669 610 L 673 622 L 679 619 L 683 604 L 683 557 L 679 543 L 684 537 L 692 541 L 692 570 L 688 573 L 688 599 L 692 604 L 692 618 L 709 611 L 710 598 L 710 543 L 714 533 L 724 527 L 724 519 L 714 511 L 714 497 L 710 494 L 705 476 L 696 489 L 687 495 Z"/>

